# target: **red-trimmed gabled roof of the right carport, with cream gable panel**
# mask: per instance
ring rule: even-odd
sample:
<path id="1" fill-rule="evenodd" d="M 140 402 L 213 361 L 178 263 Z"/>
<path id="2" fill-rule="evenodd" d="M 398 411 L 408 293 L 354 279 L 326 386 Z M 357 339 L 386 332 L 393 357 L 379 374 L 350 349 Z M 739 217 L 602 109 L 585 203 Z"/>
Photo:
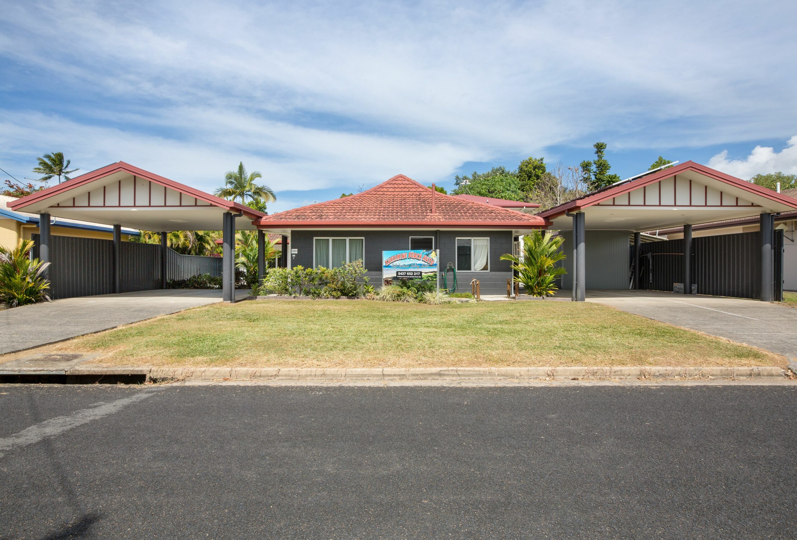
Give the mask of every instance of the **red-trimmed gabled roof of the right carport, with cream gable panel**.
<path id="1" fill-rule="evenodd" d="M 587 193 L 540 216 L 552 229 L 569 230 L 567 213 L 583 211 L 587 229 L 651 231 L 795 209 L 797 199 L 687 161 Z"/>

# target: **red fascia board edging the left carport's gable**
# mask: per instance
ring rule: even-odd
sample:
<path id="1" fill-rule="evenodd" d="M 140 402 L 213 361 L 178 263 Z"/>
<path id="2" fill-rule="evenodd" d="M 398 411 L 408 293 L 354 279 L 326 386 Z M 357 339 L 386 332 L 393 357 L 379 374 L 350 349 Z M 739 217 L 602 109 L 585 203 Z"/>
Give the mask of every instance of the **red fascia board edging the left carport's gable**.
<path id="1" fill-rule="evenodd" d="M 226 208 L 229 211 L 242 212 L 249 219 L 258 219 L 265 215 L 262 212 L 253 210 L 252 208 L 249 208 L 241 203 L 235 203 L 234 201 L 228 201 L 227 199 L 222 199 L 221 197 L 217 197 L 216 195 L 210 195 L 210 193 L 206 193 L 205 191 L 195 189 L 194 187 L 186 186 L 184 183 L 175 182 L 174 180 L 170 180 L 163 176 L 156 175 L 155 173 L 152 173 L 150 171 L 145 171 L 131 164 L 124 163 L 124 161 L 119 161 L 115 164 L 106 165 L 103 168 L 96 169 L 96 171 L 87 172 L 84 175 L 80 175 L 71 180 L 67 180 L 66 182 L 60 183 L 57 186 L 48 187 L 45 190 L 31 193 L 30 195 L 26 195 L 21 199 L 17 199 L 15 201 L 8 203 L 8 206 L 12 210 L 14 210 L 14 208 L 16 207 L 26 207 L 31 203 L 37 203 L 43 199 L 48 199 L 53 195 L 59 195 L 65 191 L 69 191 L 71 189 L 74 189 L 75 187 L 83 186 L 87 183 L 93 182 L 96 179 L 112 175 L 113 173 L 118 171 L 129 172 L 132 175 L 140 176 L 143 179 L 159 183 L 162 186 L 170 187 L 175 191 L 181 191 L 186 195 L 190 195 L 196 199 L 203 200 L 206 203 L 210 203 L 216 207 Z"/>

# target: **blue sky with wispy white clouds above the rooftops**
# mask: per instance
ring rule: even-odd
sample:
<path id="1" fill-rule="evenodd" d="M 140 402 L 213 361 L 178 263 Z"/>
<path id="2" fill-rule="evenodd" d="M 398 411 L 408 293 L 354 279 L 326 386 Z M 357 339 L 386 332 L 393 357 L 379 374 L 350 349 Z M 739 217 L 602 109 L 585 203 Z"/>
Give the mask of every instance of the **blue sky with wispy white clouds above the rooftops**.
<path id="1" fill-rule="evenodd" d="M 63 151 L 270 211 L 402 173 L 660 154 L 797 173 L 795 2 L 6 2 L 0 167 Z"/>

